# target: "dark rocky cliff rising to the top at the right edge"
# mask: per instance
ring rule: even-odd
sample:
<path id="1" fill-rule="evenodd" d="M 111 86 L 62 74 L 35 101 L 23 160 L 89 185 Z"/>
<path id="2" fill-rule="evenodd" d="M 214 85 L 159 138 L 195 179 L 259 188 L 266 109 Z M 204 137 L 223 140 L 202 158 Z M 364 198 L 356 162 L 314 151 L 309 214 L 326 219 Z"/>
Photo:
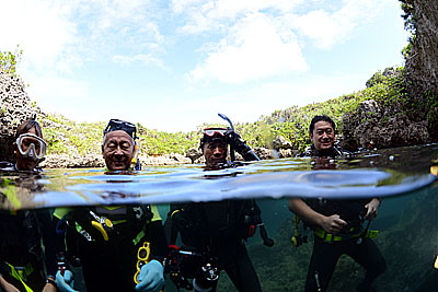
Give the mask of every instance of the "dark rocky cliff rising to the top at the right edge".
<path id="1" fill-rule="evenodd" d="M 438 1 L 402 0 L 405 27 L 411 31 L 402 71 L 388 68 L 397 93 L 365 101 L 343 117 L 344 147 L 391 148 L 438 142 Z M 379 74 L 367 87 L 379 83 Z M 390 101 L 389 101 L 390 100 Z"/>

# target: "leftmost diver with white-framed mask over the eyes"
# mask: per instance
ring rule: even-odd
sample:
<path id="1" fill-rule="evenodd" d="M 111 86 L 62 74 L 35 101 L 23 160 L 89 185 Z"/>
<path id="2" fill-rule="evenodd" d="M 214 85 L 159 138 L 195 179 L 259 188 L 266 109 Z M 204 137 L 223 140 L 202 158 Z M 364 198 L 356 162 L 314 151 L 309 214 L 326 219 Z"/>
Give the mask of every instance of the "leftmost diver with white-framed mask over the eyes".
<path id="1" fill-rule="evenodd" d="M 19 180 L 35 178 L 26 175 L 38 176 L 38 163 L 46 154 L 47 143 L 39 124 L 23 121 L 16 129 L 13 148 L 16 162 L 2 163 L 0 171 L 16 172 L 20 177 L 16 185 L 2 179 L 0 196 L 11 201 L 12 208 L 20 209 L 20 200 L 13 197 L 16 188 L 26 184 Z M 2 210 L 0 234 L 0 291 L 57 291 L 55 276 L 62 238 L 55 233 L 51 211 Z"/>

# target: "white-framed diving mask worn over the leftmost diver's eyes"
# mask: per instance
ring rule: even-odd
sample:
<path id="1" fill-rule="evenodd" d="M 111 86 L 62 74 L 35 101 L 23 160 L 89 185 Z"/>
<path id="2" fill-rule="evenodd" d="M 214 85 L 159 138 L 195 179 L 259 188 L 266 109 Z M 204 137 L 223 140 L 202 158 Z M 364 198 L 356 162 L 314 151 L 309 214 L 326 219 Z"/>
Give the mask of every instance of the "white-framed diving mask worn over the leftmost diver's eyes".
<path id="1" fill-rule="evenodd" d="M 34 133 L 22 133 L 16 138 L 16 147 L 24 157 L 41 160 L 46 155 L 47 143 Z"/>

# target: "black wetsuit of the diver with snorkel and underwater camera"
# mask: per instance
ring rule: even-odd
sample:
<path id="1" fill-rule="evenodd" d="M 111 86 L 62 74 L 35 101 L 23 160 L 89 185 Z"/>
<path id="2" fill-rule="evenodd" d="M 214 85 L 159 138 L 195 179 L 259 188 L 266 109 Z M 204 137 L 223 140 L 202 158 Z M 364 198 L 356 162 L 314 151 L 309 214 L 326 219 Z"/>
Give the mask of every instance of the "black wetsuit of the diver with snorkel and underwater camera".
<path id="1" fill-rule="evenodd" d="M 254 209 L 260 214 L 254 200 L 171 205 L 170 243 L 175 243 L 180 232 L 184 245 L 216 259 L 217 268 L 228 273 L 238 291 L 262 291 L 244 244 L 252 235 L 245 215 Z"/>

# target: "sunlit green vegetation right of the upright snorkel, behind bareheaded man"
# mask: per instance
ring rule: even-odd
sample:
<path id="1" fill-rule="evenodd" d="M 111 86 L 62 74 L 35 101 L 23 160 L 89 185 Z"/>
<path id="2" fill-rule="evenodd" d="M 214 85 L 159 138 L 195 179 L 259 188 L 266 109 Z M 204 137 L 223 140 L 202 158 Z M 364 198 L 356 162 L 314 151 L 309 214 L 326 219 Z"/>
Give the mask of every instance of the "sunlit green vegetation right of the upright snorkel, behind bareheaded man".
<path id="1" fill-rule="evenodd" d="M 342 133 L 343 116 L 355 113 L 359 104 L 374 100 L 379 104 L 400 106 L 408 105 L 403 81 L 403 68 L 387 68 L 378 71 L 367 82 L 367 89 L 343 95 L 323 103 L 309 104 L 303 107 L 292 106 L 276 110 L 269 117 L 262 117 L 253 124 L 237 125 L 237 131 L 249 141 L 251 147 L 272 145 L 273 139 L 284 136 L 295 149 L 302 151 L 310 144 L 309 125 L 313 116 L 331 116 Z"/>

